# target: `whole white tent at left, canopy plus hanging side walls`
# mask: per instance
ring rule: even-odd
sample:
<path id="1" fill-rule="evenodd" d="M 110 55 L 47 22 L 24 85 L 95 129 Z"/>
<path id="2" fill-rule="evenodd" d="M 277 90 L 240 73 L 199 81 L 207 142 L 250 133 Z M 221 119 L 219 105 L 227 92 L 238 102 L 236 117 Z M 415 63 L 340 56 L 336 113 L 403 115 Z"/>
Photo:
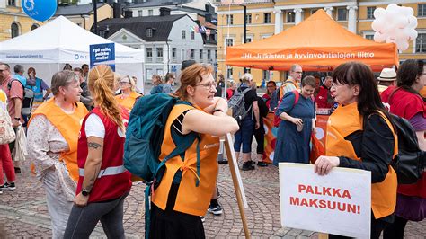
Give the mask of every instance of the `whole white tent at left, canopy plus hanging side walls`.
<path id="1" fill-rule="evenodd" d="M 50 84 L 51 76 L 66 63 L 73 67 L 89 65 L 89 45 L 111 43 L 59 16 L 55 20 L 11 40 L 0 42 L 0 61 L 12 66 L 21 64 L 25 70 L 32 66 L 37 76 Z M 115 43 L 115 68 L 120 75 L 138 77 L 143 89 L 144 53 Z M 26 75 L 25 75 L 26 76 Z"/>

